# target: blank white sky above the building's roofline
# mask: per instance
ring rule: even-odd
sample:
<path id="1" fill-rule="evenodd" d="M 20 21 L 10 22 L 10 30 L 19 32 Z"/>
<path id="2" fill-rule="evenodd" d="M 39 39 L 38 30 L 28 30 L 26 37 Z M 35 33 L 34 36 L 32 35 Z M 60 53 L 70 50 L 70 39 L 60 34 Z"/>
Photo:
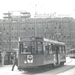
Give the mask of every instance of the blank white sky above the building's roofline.
<path id="1" fill-rule="evenodd" d="M 0 18 L 8 11 L 66 14 L 75 18 L 75 0 L 0 0 Z"/>

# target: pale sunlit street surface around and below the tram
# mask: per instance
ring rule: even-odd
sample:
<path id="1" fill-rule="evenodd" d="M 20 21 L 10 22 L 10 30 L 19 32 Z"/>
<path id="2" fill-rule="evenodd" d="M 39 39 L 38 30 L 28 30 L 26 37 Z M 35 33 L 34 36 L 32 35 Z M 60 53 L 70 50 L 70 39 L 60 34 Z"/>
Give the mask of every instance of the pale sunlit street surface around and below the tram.
<path id="1" fill-rule="evenodd" d="M 74 75 L 75 74 L 75 59 L 66 58 L 66 63 L 62 67 L 57 67 L 54 69 L 48 70 L 35 70 L 31 72 L 27 71 L 18 71 L 15 66 L 14 71 L 11 71 L 12 65 L 5 65 L 0 67 L 1 75 Z"/>

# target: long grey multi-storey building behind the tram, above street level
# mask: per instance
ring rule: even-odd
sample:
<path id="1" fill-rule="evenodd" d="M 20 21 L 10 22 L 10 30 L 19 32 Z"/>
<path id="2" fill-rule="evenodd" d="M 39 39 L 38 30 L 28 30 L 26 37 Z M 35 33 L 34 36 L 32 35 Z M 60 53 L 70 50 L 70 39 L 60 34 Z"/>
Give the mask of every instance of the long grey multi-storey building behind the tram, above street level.
<path id="1" fill-rule="evenodd" d="M 20 16 L 7 17 L 0 20 L 2 50 L 12 52 L 18 48 L 18 40 L 26 36 L 42 36 L 66 43 L 67 48 L 75 47 L 75 20 L 64 18 L 31 18 L 30 13 L 20 12 Z M 25 17 L 26 14 L 28 17 Z"/>

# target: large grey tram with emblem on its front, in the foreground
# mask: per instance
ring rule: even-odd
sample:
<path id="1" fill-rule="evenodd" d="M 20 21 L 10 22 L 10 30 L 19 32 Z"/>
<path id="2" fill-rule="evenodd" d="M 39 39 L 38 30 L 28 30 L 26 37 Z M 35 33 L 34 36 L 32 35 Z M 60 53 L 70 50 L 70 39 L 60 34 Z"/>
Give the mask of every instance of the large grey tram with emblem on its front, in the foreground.
<path id="1" fill-rule="evenodd" d="M 18 69 L 59 66 L 65 62 L 66 49 L 63 42 L 42 37 L 27 37 L 19 41 Z"/>

